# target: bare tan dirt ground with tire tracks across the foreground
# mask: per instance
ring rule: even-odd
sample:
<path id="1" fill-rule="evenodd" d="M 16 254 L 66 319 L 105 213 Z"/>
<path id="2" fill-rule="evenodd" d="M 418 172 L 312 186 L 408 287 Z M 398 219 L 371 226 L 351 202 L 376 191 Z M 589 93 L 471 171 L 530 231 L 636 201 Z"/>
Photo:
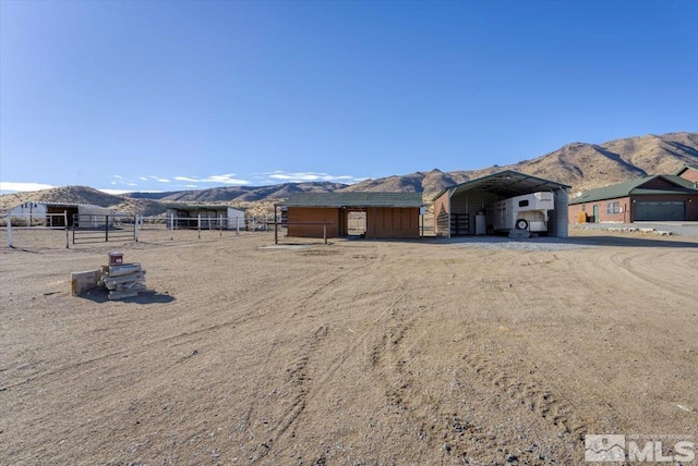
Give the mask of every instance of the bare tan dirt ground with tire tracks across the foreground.
<path id="1" fill-rule="evenodd" d="M 0 464 L 566 465 L 585 433 L 696 441 L 698 238 L 571 233 L 493 250 L 17 232 Z M 115 249 L 154 293 L 71 296 Z"/>

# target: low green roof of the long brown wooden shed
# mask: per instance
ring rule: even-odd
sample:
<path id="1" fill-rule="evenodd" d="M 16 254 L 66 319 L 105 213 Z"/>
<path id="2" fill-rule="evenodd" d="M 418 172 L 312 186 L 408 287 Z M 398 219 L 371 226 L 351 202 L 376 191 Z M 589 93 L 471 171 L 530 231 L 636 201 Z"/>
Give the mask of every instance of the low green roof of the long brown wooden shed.
<path id="1" fill-rule="evenodd" d="M 297 193 L 286 207 L 422 207 L 422 193 Z"/>

